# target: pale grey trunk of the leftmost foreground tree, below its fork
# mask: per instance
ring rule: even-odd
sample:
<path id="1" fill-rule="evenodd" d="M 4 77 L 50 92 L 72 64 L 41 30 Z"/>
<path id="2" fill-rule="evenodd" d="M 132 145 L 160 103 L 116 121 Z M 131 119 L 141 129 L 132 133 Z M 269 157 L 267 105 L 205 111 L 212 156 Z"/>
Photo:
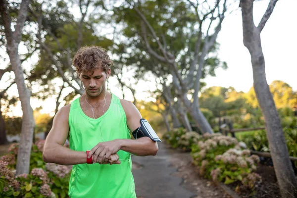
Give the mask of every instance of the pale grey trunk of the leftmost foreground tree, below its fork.
<path id="1" fill-rule="evenodd" d="M 30 105 L 31 91 L 25 85 L 24 73 L 18 54 L 18 44 L 7 46 L 12 70 L 15 74 L 15 82 L 23 111 L 21 141 L 16 162 L 16 174 L 29 173 L 30 155 L 33 140 L 35 120 L 33 109 Z"/>

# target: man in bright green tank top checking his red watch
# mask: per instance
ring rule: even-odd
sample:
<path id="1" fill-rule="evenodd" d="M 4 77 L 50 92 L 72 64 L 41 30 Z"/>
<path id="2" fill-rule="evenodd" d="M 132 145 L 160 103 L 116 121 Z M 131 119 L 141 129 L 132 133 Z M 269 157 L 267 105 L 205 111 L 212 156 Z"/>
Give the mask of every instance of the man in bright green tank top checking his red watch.
<path id="1" fill-rule="evenodd" d="M 73 65 L 85 93 L 55 115 L 44 161 L 74 165 L 70 198 L 136 198 L 130 153 L 155 155 L 160 140 L 132 102 L 107 92 L 112 61 L 105 49 L 81 48 Z M 142 138 L 131 140 L 130 131 Z M 68 133 L 70 149 L 63 147 Z"/>

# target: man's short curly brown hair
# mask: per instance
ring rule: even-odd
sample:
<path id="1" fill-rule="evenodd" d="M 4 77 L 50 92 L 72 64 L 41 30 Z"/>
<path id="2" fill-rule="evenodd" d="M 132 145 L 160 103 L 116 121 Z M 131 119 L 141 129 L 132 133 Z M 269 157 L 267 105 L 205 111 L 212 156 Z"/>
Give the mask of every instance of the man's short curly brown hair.
<path id="1" fill-rule="evenodd" d="M 106 49 L 98 46 L 85 46 L 76 52 L 72 64 L 80 75 L 82 72 L 94 72 L 99 67 L 102 67 L 106 73 L 113 65 L 113 61 Z"/>

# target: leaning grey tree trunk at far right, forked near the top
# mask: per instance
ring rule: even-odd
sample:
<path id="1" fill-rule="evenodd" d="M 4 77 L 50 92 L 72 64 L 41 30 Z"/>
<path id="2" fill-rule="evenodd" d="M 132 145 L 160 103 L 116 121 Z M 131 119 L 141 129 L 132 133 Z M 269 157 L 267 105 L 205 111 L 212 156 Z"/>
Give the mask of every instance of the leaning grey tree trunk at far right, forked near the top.
<path id="1" fill-rule="evenodd" d="M 244 45 L 251 56 L 254 90 L 264 115 L 269 148 L 281 195 L 283 198 L 296 198 L 297 181 L 289 158 L 281 120 L 266 81 L 265 60 L 260 38 L 260 32 L 272 13 L 276 1 L 270 1 L 263 18 L 256 27 L 253 23 L 253 0 L 241 0 Z"/>

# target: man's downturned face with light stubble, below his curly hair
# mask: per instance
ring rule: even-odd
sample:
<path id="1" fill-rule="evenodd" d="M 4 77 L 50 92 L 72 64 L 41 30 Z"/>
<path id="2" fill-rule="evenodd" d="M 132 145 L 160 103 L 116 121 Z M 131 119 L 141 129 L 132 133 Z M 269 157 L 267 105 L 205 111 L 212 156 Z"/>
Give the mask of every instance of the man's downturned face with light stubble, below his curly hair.
<path id="1" fill-rule="evenodd" d="M 110 75 L 110 69 L 107 71 Z M 80 79 L 86 89 L 86 94 L 91 97 L 97 97 L 105 88 L 107 74 L 103 71 L 102 67 L 95 69 L 94 72 L 82 72 Z"/>

